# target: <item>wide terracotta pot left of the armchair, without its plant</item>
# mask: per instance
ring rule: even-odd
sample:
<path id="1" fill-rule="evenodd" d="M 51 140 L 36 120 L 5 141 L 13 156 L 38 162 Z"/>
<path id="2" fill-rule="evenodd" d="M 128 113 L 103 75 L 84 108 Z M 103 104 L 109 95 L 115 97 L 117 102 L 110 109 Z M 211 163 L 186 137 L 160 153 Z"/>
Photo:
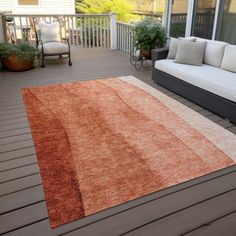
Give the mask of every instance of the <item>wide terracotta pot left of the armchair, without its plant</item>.
<path id="1" fill-rule="evenodd" d="M 13 54 L 7 59 L 2 59 L 4 68 L 10 71 L 26 71 L 33 68 L 33 59 L 22 59 Z"/>

